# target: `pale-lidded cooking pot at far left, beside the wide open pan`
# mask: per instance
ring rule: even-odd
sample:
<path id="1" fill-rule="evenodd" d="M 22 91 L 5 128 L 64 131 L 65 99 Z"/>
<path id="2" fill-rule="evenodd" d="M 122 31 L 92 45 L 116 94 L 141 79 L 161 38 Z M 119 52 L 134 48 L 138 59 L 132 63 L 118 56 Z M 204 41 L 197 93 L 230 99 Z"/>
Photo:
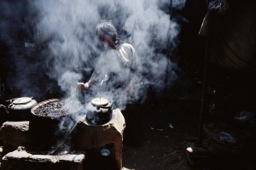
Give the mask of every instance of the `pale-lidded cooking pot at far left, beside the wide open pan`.
<path id="1" fill-rule="evenodd" d="M 32 97 L 9 99 L 8 102 L 10 121 L 28 121 L 32 106 L 38 103 Z"/>

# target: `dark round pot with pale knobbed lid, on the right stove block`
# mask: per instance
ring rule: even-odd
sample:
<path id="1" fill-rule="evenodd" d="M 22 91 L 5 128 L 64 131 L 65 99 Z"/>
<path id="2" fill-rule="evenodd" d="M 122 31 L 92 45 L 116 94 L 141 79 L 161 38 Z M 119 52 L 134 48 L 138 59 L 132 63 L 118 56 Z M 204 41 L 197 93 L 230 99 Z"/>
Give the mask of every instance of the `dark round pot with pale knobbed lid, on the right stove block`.
<path id="1" fill-rule="evenodd" d="M 111 119 L 112 101 L 105 98 L 91 99 L 86 105 L 86 121 L 92 125 L 102 125 Z"/>

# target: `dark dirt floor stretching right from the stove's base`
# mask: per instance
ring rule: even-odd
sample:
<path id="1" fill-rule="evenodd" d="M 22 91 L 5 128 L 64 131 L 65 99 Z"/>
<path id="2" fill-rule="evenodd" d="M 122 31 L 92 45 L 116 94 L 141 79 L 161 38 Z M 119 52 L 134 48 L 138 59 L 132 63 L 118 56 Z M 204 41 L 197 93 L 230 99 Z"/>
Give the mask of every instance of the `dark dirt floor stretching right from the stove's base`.
<path id="1" fill-rule="evenodd" d="M 241 146 L 233 148 L 221 146 L 218 154 L 211 156 L 208 161 L 199 161 L 200 167 L 191 166 L 187 159 L 186 148 L 189 140 L 198 136 L 201 102 L 199 99 L 163 99 L 162 101 L 165 102 L 149 102 L 141 108 L 144 142 L 137 147 L 125 145 L 123 166 L 126 169 L 253 170 L 256 168 L 256 149 L 253 147 L 256 139 L 253 133 L 255 128 L 248 130 L 241 127 L 239 127 L 243 135 L 239 143 Z"/>

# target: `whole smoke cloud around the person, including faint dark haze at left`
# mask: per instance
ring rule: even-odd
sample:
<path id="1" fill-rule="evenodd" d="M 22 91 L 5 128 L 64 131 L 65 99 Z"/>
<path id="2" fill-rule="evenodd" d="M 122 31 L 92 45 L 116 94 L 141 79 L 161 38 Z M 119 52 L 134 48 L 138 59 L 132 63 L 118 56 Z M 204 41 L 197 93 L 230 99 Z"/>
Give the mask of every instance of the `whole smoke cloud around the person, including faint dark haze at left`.
<path id="1" fill-rule="evenodd" d="M 40 51 L 38 56 L 33 56 L 33 60 L 15 50 L 12 61 L 15 62 L 16 76 L 10 78 L 9 86 L 26 87 L 21 95 L 39 98 L 54 90 L 53 83 L 44 81 L 45 89 L 36 88 L 47 77 L 57 82 L 66 97 L 72 96 L 76 82 L 87 82 L 98 61 L 108 55 L 99 48 L 101 45 L 96 38 L 95 28 L 100 20 L 112 20 L 119 31 L 119 38 L 133 45 L 142 62 L 143 83 L 156 93 L 161 93 L 177 80 L 177 65 L 166 57 L 166 51 L 172 54 L 177 48 L 177 36 L 181 29 L 170 13 L 173 9 L 182 9 L 184 4 L 185 0 L 35 0 L 26 1 L 26 8 L 22 8 L 24 5 L 21 3 L 6 1 L 1 7 L 6 17 L 1 24 L 1 30 L 6 33 L 4 35 L 9 35 L 7 26 L 15 21 L 9 20 L 9 16 L 20 15 L 9 13 L 21 11 L 31 26 L 23 28 L 30 32 L 27 35 L 32 35 L 29 41 L 23 39 L 27 42 L 26 49 L 35 45 L 36 50 Z M 20 5 L 18 10 L 10 10 L 15 5 Z M 19 22 L 23 23 L 20 26 L 24 26 L 24 20 Z M 1 36 L 2 40 L 13 39 L 3 37 L 3 34 Z M 9 42 L 9 45 L 17 47 L 17 43 Z M 24 48 L 24 45 L 21 47 Z M 115 60 L 109 58 L 102 68 L 108 70 L 113 63 Z M 38 70 L 43 73 L 38 73 Z M 115 98 L 119 101 L 117 106 L 125 108 L 123 92 L 113 89 L 105 94 L 100 90 L 92 94 L 94 97 L 100 95 L 110 98 L 119 96 Z"/>

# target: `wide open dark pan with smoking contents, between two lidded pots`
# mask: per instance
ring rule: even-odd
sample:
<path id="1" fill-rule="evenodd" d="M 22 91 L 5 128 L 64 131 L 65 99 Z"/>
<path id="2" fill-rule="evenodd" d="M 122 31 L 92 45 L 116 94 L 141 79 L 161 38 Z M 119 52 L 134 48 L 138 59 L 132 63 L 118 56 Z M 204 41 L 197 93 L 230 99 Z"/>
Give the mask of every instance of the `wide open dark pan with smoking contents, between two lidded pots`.
<path id="1" fill-rule="evenodd" d="M 63 100 L 48 99 L 32 107 L 29 132 L 33 150 L 49 154 L 65 142 L 69 131 L 75 126 L 75 120 L 63 105 Z"/>

